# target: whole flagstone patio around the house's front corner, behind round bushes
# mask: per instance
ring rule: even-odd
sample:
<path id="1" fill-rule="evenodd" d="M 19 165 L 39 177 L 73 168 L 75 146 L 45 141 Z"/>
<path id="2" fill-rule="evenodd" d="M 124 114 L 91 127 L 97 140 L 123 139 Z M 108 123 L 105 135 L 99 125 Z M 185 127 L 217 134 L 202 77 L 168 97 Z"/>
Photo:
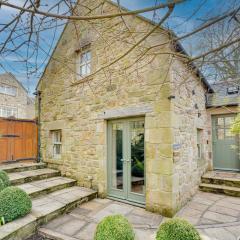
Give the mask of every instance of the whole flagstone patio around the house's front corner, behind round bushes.
<path id="1" fill-rule="evenodd" d="M 124 203 L 94 199 L 50 222 L 41 231 L 59 239 L 92 240 L 97 223 L 111 214 L 125 215 L 133 224 L 137 240 L 155 239 L 159 224 L 166 219 Z M 177 216 L 194 224 L 204 240 L 240 239 L 240 198 L 199 192 Z"/>

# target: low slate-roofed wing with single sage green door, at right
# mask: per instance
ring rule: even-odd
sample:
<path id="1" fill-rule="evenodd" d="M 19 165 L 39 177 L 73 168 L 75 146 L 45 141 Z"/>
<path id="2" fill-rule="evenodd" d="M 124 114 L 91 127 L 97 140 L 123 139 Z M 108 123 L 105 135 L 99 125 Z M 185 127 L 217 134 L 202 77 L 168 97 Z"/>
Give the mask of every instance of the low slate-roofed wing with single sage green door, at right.
<path id="1" fill-rule="evenodd" d="M 211 168 L 240 171 L 240 137 L 231 132 L 240 112 L 240 84 L 237 80 L 220 81 L 212 85 L 214 93 L 207 94 Z"/>

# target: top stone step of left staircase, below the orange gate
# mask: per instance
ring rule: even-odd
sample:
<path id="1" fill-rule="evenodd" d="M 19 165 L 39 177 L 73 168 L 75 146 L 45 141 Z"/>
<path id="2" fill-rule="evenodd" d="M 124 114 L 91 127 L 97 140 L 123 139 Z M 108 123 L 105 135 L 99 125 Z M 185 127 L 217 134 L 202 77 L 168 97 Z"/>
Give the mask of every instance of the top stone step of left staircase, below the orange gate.
<path id="1" fill-rule="evenodd" d="M 23 172 L 36 169 L 45 168 L 46 163 L 11 163 L 11 164 L 0 164 L 0 170 L 4 170 L 7 173 Z"/>

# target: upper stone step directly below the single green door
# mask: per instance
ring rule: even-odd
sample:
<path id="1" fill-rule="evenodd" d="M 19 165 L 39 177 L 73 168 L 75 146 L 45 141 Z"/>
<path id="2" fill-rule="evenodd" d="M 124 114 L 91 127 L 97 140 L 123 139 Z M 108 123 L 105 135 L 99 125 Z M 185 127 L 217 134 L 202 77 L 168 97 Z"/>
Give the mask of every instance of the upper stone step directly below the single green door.
<path id="1" fill-rule="evenodd" d="M 226 176 L 218 176 L 218 175 L 203 175 L 202 183 L 207 184 L 216 184 L 216 185 L 225 185 L 229 187 L 238 187 L 240 188 L 240 178 L 231 178 Z"/>

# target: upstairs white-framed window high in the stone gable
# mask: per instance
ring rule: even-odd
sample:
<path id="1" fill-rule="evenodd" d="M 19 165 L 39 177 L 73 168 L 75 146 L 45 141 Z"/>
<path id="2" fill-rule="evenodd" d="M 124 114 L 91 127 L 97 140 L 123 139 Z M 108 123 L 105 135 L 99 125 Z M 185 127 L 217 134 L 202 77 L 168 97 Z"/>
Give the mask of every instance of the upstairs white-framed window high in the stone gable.
<path id="1" fill-rule="evenodd" d="M 89 57 L 88 57 L 89 54 Z M 79 53 L 79 63 L 77 64 L 79 78 L 87 77 L 91 74 L 92 68 L 92 52 L 90 49 L 86 49 Z M 85 70 L 83 70 L 85 69 Z M 85 72 L 83 72 L 85 71 Z"/>

